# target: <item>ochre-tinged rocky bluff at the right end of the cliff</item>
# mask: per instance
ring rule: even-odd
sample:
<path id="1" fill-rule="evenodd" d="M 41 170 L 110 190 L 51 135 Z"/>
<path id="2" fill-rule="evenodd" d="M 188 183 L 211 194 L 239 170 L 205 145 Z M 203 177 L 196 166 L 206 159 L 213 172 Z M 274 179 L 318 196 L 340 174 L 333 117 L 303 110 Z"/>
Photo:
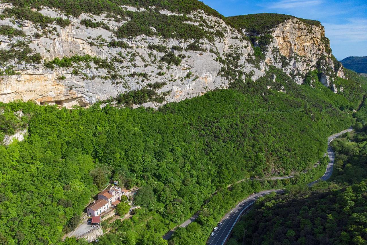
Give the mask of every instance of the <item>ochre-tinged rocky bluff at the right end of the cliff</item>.
<path id="1" fill-rule="evenodd" d="M 333 67 L 322 25 L 309 25 L 290 18 L 273 28 L 271 35 L 273 42 L 266 53 L 266 63 L 283 69 L 297 84 L 303 83 L 303 75 L 315 69 L 321 57 L 326 57 L 328 65 Z M 329 85 L 325 76 L 323 81 L 324 85 Z"/>

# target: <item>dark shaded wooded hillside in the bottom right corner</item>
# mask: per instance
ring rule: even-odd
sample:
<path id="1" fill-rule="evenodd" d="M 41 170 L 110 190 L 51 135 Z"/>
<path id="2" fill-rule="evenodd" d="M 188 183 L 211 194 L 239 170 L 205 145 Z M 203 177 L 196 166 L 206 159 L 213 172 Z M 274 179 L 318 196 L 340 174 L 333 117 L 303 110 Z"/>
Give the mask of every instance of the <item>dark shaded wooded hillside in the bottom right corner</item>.
<path id="1" fill-rule="evenodd" d="M 269 196 L 244 216 L 228 244 L 365 244 L 366 181 L 336 191 Z"/>

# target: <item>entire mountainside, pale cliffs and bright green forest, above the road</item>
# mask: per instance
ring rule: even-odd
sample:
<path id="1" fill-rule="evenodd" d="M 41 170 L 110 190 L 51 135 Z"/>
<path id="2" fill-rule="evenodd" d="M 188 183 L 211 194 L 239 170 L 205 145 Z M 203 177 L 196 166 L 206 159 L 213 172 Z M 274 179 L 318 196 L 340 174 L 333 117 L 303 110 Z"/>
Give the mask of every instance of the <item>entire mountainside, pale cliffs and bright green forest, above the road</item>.
<path id="1" fill-rule="evenodd" d="M 0 144 L 0 244 L 84 244 L 61 238 L 110 180 L 152 195 L 103 224 L 99 244 L 167 244 L 219 190 L 196 240 L 182 237 L 205 244 L 218 203 L 282 185 L 229 184 L 312 168 L 367 91 L 317 22 L 280 15 L 247 33 L 199 1 L 8 0 L 0 11 L 0 140 L 26 132 Z"/>

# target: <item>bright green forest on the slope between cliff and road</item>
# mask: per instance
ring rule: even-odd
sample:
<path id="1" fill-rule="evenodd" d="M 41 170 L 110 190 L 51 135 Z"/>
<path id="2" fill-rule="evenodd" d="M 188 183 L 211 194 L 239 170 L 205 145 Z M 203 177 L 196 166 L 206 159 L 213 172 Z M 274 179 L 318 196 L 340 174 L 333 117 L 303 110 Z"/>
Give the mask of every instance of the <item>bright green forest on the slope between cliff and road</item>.
<path id="1" fill-rule="evenodd" d="M 62 227 L 73 227 L 72 218 L 111 177 L 127 188 L 147 186 L 146 193 L 150 186 L 154 197 L 142 199 L 147 206 L 123 222 L 130 232 L 116 221 L 116 233 L 101 241 L 159 242 L 168 227 L 232 181 L 312 166 L 326 149 L 326 137 L 351 123 L 334 105 L 333 93 L 282 81 L 281 74 L 277 83 L 287 93 L 263 90 L 263 83 L 248 82 L 244 93 L 208 92 L 159 111 L 2 104 L 30 118 L 24 142 L 0 146 L 7 176 L 0 184 L 0 209 L 8 211 L 0 218 L 6 224 L 0 233 L 14 243 L 57 243 Z"/>

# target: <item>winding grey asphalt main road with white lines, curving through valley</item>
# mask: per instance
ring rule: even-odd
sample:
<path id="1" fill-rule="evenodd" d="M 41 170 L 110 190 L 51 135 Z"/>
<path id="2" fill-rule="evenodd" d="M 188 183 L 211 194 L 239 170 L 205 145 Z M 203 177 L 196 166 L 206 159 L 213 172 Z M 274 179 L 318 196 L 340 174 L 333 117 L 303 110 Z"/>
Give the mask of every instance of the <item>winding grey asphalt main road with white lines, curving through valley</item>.
<path id="1" fill-rule="evenodd" d="M 325 174 L 319 178 L 319 180 L 313 181 L 309 183 L 309 186 L 312 186 L 316 184 L 320 180 L 327 180 L 331 177 L 331 174 L 333 173 L 333 167 L 334 167 L 334 152 L 333 149 L 330 146 L 330 142 L 333 141 L 333 139 L 337 138 L 338 136 L 352 131 L 352 128 L 348 128 L 344 131 L 341 131 L 337 134 L 333 134 L 328 138 L 328 148 L 327 148 L 327 155 L 330 159 Z M 283 190 L 266 190 L 261 191 L 255 194 L 250 195 L 248 198 L 241 201 L 236 207 L 234 207 L 232 210 L 230 210 L 228 213 L 225 214 L 225 216 L 222 218 L 221 222 L 222 225 L 218 226 L 218 230 L 214 232 L 213 237 L 209 237 L 207 241 L 207 245 L 223 245 L 227 241 L 233 227 L 235 226 L 236 222 L 239 220 L 242 214 L 246 213 L 249 209 L 251 209 L 252 204 L 255 202 L 256 199 L 265 196 L 271 192 L 283 192 Z"/>

